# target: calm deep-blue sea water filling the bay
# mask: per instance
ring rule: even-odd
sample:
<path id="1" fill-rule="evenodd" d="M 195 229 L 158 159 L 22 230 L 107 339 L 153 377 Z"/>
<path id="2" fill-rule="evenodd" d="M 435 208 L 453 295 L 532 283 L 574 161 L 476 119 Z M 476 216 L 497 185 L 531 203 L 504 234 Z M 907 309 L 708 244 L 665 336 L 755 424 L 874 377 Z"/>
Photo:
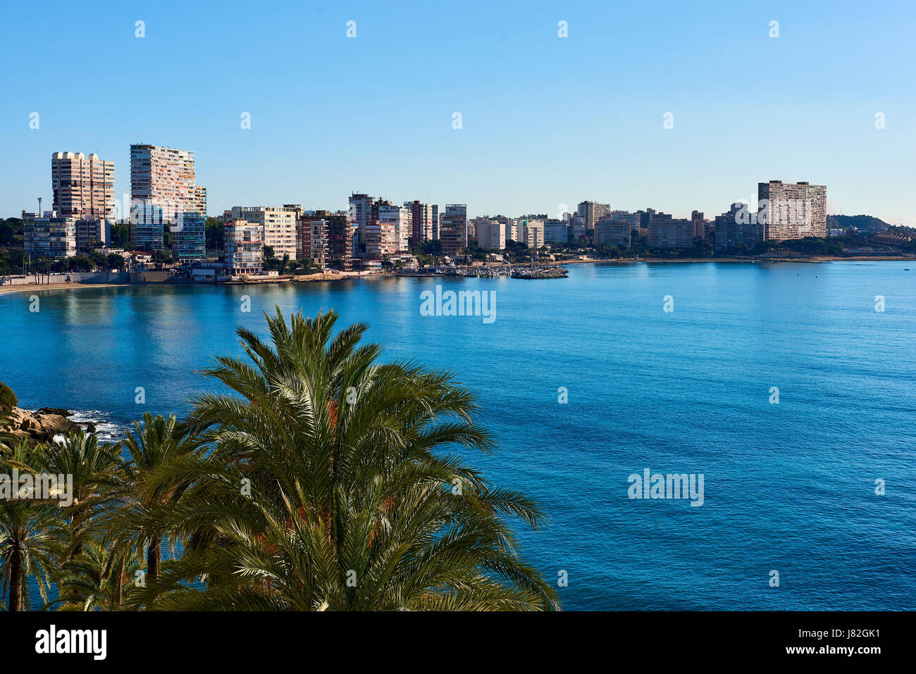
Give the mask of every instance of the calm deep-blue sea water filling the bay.
<path id="1" fill-rule="evenodd" d="M 0 379 L 24 407 L 77 409 L 111 431 L 215 386 L 195 371 L 240 352 L 236 325 L 266 332 L 262 310 L 333 308 L 371 323 L 387 358 L 450 368 L 479 392 L 500 451 L 474 461 L 551 517 L 520 538 L 548 578 L 568 574 L 565 608 L 916 609 L 907 264 L 93 288 L 39 292 L 38 313 L 15 294 L 0 297 Z M 420 292 L 437 284 L 494 290 L 496 321 L 421 316 Z M 703 473 L 703 506 L 628 498 L 646 468 Z"/>

